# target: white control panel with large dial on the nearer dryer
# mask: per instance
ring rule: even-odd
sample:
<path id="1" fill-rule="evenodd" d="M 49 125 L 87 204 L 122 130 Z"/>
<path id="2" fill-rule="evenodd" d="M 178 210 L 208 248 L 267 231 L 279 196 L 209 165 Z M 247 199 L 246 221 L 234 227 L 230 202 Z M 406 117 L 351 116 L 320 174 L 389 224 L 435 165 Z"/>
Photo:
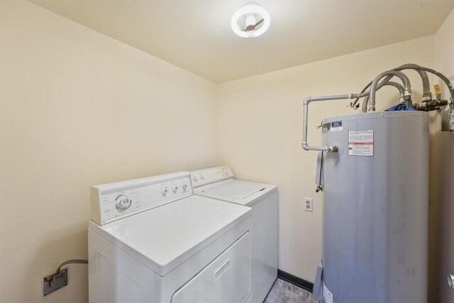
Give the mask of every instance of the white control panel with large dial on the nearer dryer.
<path id="1" fill-rule="evenodd" d="M 96 185 L 91 219 L 104 225 L 192 194 L 189 172 Z"/>

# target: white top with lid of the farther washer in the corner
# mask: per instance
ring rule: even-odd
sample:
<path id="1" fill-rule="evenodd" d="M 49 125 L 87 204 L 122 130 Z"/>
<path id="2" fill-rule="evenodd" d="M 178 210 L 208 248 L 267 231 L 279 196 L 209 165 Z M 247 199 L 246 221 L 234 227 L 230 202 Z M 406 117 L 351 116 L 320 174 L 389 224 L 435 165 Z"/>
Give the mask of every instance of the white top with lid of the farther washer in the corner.
<path id="1" fill-rule="evenodd" d="M 277 186 L 272 184 L 228 179 L 194 188 L 194 194 L 252 206 L 255 202 L 276 190 Z"/>

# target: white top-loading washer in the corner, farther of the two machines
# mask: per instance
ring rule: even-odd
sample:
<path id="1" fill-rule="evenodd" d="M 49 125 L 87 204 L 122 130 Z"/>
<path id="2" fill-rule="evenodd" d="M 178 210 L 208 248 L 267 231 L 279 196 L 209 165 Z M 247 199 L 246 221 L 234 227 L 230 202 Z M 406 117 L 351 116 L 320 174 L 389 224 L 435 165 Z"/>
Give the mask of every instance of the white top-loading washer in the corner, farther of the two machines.
<path id="1" fill-rule="evenodd" d="M 252 208 L 252 302 L 263 302 L 277 277 L 277 186 L 235 180 L 227 165 L 191 172 L 195 194 Z"/>

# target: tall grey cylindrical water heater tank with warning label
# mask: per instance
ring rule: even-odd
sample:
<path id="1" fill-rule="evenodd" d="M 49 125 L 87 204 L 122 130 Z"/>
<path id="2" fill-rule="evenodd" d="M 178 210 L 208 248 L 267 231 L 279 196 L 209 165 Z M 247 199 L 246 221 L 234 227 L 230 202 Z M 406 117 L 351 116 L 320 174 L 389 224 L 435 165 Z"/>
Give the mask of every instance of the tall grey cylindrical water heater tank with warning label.
<path id="1" fill-rule="evenodd" d="M 323 302 L 426 303 L 428 113 L 323 120 Z"/>

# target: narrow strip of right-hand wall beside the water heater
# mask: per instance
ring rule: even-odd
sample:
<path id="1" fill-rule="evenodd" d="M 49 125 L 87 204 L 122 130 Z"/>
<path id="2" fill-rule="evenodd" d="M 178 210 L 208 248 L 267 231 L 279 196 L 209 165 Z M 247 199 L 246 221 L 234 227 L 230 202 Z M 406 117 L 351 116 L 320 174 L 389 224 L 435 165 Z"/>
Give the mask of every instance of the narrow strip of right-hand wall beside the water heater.
<path id="1" fill-rule="evenodd" d="M 436 70 L 454 83 L 454 11 L 450 13 L 435 35 Z M 448 89 L 443 97 L 448 99 Z M 433 301 L 454 302 L 454 291 L 446 282 L 454 273 L 454 135 L 441 132 L 440 115 L 433 116 L 431 128 L 431 238 L 430 294 Z"/>

